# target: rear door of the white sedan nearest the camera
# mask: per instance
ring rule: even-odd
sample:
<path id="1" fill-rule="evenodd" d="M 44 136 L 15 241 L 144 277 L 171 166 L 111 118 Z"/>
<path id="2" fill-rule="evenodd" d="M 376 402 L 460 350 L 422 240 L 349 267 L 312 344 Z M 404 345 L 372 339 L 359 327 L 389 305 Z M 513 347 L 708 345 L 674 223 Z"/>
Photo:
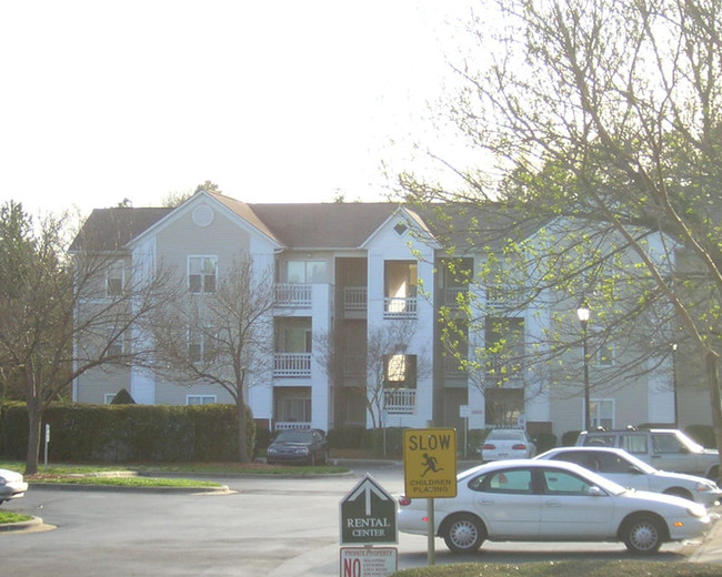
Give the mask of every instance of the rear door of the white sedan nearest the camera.
<path id="1" fill-rule="evenodd" d="M 469 484 L 474 512 L 491 538 L 538 537 L 541 496 L 532 487 L 532 472 L 523 467 L 494 470 Z"/>

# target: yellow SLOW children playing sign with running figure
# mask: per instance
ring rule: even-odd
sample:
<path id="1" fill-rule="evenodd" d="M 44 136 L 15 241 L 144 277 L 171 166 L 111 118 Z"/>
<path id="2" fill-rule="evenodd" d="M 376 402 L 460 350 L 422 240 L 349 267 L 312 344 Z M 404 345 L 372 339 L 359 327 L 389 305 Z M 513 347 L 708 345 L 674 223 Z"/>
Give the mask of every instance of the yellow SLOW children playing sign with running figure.
<path id="1" fill-rule="evenodd" d="M 407 497 L 455 497 L 457 429 L 405 429 L 403 473 Z"/>

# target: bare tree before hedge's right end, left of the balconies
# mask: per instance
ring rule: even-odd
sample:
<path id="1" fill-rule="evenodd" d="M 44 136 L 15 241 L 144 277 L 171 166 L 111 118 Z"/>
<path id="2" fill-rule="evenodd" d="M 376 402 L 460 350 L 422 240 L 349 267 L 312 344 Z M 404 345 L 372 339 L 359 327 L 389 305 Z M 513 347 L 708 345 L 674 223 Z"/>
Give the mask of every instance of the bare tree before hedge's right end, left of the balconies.
<path id="1" fill-rule="evenodd" d="M 241 463 L 251 459 L 247 445 L 251 374 L 261 379 L 272 368 L 274 304 L 271 270 L 257 270 L 242 260 L 214 291 L 167 302 L 152 326 L 156 372 L 182 385 L 218 385 L 233 399 Z"/>

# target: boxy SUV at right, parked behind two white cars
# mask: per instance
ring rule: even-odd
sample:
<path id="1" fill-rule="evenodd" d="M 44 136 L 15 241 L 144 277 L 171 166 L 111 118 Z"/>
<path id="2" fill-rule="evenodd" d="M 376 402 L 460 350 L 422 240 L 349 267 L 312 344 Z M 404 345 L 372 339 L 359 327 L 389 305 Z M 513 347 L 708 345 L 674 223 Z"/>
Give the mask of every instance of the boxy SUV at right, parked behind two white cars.
<path id="1" fill-rule="evenodd" d="M 715 482 L 720 478 L 719 452 L 704 448 L 676 428 L 583 431 L 576 445 L 623 448 L 654 468 L 701 475 Z"/>

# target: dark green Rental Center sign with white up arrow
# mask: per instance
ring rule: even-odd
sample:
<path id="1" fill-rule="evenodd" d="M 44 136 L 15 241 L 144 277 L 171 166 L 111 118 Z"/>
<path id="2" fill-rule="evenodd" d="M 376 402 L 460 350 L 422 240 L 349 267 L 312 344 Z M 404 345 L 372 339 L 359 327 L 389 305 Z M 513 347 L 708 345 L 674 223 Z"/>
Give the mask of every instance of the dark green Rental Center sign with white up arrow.
<path id="1" fill-rule="evenodd" d="M 397 502 L 367 474 L 341 500 L 341 545 L 399 543 Z"/>

